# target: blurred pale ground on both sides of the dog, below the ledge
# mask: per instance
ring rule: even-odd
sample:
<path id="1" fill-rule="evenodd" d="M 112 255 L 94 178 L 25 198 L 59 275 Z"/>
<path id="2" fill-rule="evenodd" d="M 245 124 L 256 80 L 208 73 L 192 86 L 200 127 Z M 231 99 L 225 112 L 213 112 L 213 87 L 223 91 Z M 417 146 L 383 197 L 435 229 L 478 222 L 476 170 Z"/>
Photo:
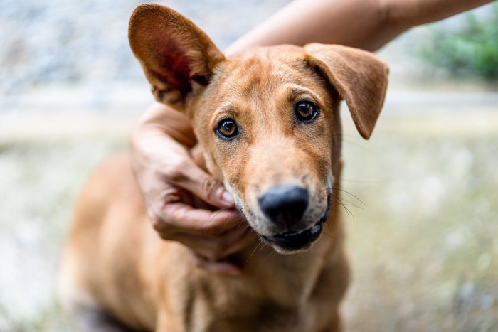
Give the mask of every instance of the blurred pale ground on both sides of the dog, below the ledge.
<path id="1" fill-rule="evenodd" d="M 446 117 L 423 132 L 418 114 L 387 114 L 370 141 L 346 125 L 347 331 L 498 329 L 497 124 L 448 134 Z M 127 144 L 121 129 L 89 132 L 0 139 L 0 331 L 70 331 L 54 295 L 70 208 Z"/>

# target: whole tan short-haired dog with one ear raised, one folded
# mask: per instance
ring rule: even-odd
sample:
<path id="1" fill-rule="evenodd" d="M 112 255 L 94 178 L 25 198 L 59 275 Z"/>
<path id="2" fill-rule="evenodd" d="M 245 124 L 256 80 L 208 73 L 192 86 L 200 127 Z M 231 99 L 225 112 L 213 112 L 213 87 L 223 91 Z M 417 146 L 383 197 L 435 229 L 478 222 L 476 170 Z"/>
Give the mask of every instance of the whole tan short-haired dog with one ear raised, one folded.
<path id="1" fill-rule="evenodd" d="M 265 245 L 231 257 L 243 263 L 238 277 L 196 267 L 149 224 L 127 156 L 110 159 L 78 200 L 63 259 L 61 296 L 78 328 L 339 331 L 339 102 L 368 139 L 386 65 L 320 44 L 225 58 L 191 21 L 149 4 L 134 11 L 129 41 L 156 99 L 191 119 L 203 163 Z"/>

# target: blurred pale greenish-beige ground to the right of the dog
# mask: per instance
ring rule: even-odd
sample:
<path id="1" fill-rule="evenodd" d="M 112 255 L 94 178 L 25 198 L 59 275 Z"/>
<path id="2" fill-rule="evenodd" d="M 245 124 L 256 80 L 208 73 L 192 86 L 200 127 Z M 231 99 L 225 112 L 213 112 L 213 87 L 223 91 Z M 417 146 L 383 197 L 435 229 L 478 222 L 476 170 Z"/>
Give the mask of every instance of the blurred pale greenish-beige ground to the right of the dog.
<path id="1" fill-rule="evenodd" d="M 346 143 L 349 331 L 498 331 L 497 136 Z M 364 181 L 363 181 L 364 180 Z M 345 195 L 354 205 L 355 198 Z"/>

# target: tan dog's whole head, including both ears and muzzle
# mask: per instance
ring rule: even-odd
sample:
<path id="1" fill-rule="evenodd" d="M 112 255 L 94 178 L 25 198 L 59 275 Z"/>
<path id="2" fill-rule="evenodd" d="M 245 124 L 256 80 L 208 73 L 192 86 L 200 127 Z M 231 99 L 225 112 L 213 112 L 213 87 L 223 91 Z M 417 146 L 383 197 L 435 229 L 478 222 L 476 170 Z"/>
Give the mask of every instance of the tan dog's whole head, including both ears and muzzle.
<path id="1" fill-rule="evenodd" d="M 281 45 L 225 58 L 203 31 L 164 6 L 139 6 L 129 41 L 159 102 L 191 119 L 208 170 L 279 252 L 322 232 L 339 179 L 339 102 L 368 139 L 388 69 L 339 45 Z"/>

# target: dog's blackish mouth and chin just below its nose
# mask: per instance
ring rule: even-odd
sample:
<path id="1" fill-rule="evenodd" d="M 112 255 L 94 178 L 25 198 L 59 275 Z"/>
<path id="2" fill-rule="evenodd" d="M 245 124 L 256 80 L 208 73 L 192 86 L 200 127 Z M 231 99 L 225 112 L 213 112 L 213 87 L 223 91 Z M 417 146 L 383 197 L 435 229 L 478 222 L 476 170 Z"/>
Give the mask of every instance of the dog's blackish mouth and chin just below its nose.
<path id="1" fill-rule="evenodd" d="M 293 254 L 307 250 L 322 234 L 322 222 L 300 232 L 285 232 L 272 236 L 262 236 L 280 254 Z"/>

